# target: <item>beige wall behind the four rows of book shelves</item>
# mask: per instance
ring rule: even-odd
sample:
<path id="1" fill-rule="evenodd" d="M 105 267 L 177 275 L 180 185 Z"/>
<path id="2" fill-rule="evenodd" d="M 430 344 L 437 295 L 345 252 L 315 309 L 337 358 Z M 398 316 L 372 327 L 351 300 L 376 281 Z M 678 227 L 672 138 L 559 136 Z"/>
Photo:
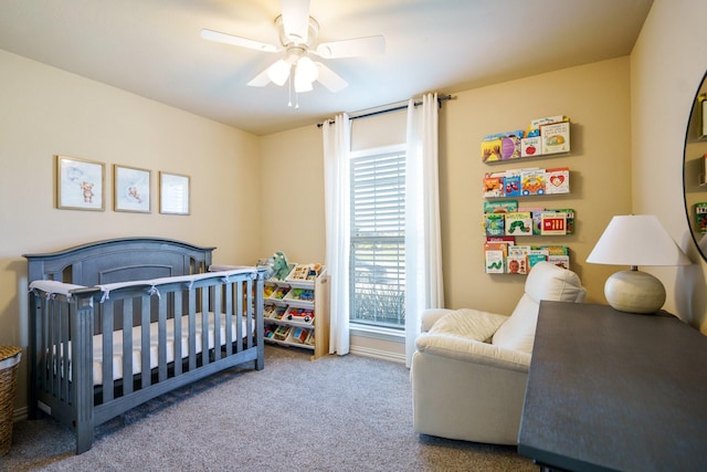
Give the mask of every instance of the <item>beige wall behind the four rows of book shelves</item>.
<path id="1" fill-rule="evenodd" d="M 532 244 L 567 244 L 572 269 L 588 287 L 588 301 L 604 303 L 605 266 L 584 260 L 613 214 L 631 209 L 629 59 L 566 69 L 456 94 L 444 104 L 440 125 L 440 188 L 445 301 L 509 313 L 523 276 L 483 273 L 482 177 L 519 167 L 570 168 L 571 193 L 518 198 L 519 204 L 573 208 L 576 233 L 561 238 L 518 239 Z M 557 157 L 486 165 L 484 135 L 525 129 L 532 118 L 566 115 L 571 122 L 571 151 Z"/>

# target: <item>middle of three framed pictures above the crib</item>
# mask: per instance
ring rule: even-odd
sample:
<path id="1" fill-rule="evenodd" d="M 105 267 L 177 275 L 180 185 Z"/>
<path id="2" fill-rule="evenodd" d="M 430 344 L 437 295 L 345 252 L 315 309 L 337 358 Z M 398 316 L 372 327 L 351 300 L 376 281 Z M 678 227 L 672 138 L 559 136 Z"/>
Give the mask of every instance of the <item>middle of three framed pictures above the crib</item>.
<path id="1" fill-rule="evenodd" d="M 113 166 L 113 209 L 149 213 L 151 172 L 137 167 Z"/>

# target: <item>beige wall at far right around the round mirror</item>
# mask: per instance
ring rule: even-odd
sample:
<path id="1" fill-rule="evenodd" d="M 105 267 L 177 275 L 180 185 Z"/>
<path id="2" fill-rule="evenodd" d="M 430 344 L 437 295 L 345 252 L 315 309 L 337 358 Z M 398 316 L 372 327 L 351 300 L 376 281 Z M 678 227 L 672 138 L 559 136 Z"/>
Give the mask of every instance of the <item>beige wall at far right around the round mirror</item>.
<path id="1" fill-rule="evenodd" d="M 655 0 L 631 54 L 633 204 L 656 214 L 695 264 L 645 268 L 666 285 L 665 308 L 707 334 L 707 264 L 683 206 L 683 149 L 692 103 L 707 69 L 707 2 Z"/>

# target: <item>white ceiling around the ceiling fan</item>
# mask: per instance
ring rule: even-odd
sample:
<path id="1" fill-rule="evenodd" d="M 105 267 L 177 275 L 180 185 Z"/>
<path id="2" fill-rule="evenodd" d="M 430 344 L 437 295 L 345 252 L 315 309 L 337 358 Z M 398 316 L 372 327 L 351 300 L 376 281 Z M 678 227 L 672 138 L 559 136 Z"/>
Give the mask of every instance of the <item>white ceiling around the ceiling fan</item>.
<path id="1" fill-rule="evenodd" d="M 312 0 L 317 42 L 382 34 L 386 54 L 324 61 L 349 86 L 315 84 L 299 109 L 286 85 L 246 85 L 276 53 L 200 38 L 278 44 L 278 0 L 2 0 L 0 49 L 264 135 L 630 54 L 652 2 Z"/>

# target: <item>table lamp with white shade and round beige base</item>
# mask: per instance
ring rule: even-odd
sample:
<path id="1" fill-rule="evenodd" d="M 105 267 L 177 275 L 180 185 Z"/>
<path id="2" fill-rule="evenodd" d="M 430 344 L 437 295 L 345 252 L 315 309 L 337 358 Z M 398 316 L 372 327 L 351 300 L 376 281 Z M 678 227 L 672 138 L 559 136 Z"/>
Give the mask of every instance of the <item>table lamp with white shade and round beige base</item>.
<path id="1" fill-rule="evenodd" d="M 639 265 L 688 265 L 678 248 L 653 214 L 613 217 L 587 258 L 593 264 L 630 265 L 611 275 L 604 285 L 609 304 L 619 311 L 655 313 L 665 303 L 665 287 Z"/>

